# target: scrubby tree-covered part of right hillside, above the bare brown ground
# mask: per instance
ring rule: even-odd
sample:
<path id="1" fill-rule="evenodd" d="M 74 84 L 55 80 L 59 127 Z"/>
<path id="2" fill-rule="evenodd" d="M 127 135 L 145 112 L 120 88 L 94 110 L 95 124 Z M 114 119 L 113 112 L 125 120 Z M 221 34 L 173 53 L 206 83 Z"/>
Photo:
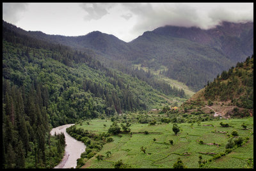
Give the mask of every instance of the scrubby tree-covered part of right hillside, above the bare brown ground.
<path id="1" fill-rule="evenodd" d="M 237 107 L 253 109 L 253 56 L 208 82 L 204 92 L 207 100 L 231 100 Z"/>

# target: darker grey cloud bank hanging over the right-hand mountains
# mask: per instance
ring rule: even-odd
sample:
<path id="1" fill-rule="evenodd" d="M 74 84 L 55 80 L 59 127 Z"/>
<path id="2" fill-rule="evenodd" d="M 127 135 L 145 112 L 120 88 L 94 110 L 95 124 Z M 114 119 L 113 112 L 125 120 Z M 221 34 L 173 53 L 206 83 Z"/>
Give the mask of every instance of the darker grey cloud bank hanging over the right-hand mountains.
<path id="1" fill-rule="evenodd" d="M 253 3 L 124 3 L 138 17 L 134 34 L 172 25 L 209 29 L 220 21 L 253 21 Z M 252 5 L 252 8 L 249 8 Z M 249 10 L 248 10 L 249 9 Z"/>

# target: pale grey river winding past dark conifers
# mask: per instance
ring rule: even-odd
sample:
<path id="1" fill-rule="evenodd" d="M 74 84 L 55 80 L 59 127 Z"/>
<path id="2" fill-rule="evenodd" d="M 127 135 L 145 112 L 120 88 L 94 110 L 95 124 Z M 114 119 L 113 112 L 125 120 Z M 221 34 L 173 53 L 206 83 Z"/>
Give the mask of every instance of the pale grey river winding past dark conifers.
<path id="1" fill-rule="evenodd" d="M 73 124 L 65 124 L 56 128 L 52 128 L 51 130 L 51 135 L 54 135 L 55 132 L 56 134 L 63 132 L 67 144 L 65 147 L 65 155 L 63 156 L 63 159 L 54 168 L 76 168 L 76 160 L 80 158 L 81 153 L 85 151 L 86 146 L 83 144 L 83 142 L 77 141 L 75 138 L 68 135 L 66 129 L 72 125 Z"/>

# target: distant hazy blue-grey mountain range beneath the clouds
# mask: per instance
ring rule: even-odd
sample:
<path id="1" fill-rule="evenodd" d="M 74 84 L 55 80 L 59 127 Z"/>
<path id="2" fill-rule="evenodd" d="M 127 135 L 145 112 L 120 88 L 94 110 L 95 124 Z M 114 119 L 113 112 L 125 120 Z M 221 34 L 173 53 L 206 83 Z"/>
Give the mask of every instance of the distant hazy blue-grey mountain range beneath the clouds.
<path id="1" fill-rule="evenodd" d="M 146 31 L 129 43 L 99 31 L 72 37 L 47 35 L 40 31 L 27 32 L 4 21 L 3 25 L 40 40 L 61 43 L 86 52 L 93 50 L 97 59 L 123 72 L 123 68 L 133 64 L 141 64 L 152 70 L 164 66 L 166 70 L 161 74 L 184 82 L 193 91 L 202 89 L 207 80 L 211 81 L 218 73 L 253 54 L 252 22 L 223 22 L 208 30 L 159 27 Z"/>

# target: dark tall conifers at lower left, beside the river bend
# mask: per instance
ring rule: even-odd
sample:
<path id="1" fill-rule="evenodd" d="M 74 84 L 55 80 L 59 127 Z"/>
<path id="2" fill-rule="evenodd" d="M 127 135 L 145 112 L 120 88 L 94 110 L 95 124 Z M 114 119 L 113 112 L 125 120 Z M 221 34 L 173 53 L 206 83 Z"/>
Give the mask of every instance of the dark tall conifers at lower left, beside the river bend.
<path id="1" fill-rule="evenodd" d="M 47 91 L 30 87 L 3 79 L 3 168 L 52 168 L 62 159 L 65 136 L 48 133 Z"/>

